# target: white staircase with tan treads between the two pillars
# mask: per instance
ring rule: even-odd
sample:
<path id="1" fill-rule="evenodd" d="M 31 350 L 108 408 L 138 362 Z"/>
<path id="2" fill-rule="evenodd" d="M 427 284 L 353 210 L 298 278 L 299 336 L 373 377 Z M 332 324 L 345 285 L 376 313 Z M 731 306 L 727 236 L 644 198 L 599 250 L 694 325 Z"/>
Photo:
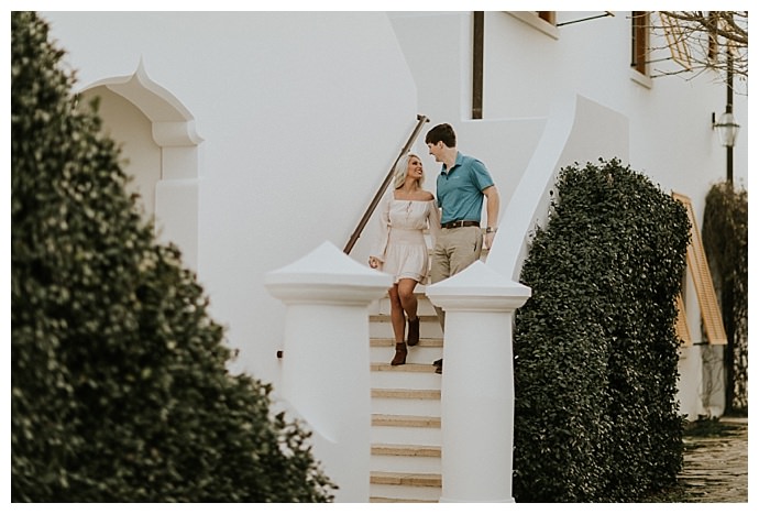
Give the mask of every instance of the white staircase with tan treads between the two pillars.
<path id="1" fill-rule="evenodd" d="M 432 304 L 417 285 L 420 340 L 406 364 L 391 365 L 395 339 L 389 299 L 370 309 L 372 457 L 370 502 L 437 502 L 440 474 L 440 380 L 432 362 L 442 357 L 442 330 Z"/>

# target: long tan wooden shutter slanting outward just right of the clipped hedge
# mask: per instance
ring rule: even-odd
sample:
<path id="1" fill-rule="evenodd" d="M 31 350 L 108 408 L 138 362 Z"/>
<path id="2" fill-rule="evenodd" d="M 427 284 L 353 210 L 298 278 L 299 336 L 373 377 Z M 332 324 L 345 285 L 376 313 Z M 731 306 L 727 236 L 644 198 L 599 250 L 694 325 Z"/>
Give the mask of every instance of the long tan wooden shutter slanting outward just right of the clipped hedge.
<path id="1" fill-rule="evenodd" d="M 708 261 L 706 261 L 706 253 L 704 253 L 704 245 L 701 242 L 701 231 L 693 211 L 693 205 L 686 196 L 678 193 L 672 193 L 672 196 L 685 206 L 688 218 L 691 221 L 691 244 L 688 247 L 686 253 L 688 273 L 693 278 L 693 284 L 695 285 L 706 340 L 711 345 L 727 345 L 725 326 L 722 321 L 722 313 L 717 303 L 717 295 L 714 292 L 714 283 L 712 282 Z"/>

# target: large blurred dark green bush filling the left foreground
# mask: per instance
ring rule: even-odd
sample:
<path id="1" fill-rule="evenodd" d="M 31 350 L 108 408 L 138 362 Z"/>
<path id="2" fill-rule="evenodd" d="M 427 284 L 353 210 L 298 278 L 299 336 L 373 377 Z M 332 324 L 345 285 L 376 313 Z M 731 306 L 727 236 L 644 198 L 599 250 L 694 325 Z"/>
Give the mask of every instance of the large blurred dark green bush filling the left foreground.
<path id="1" fill-rule="evenodd" d="M 323 502 L 310 436 L 231 375 L 178 251 L 124 190 L 63 52 L 11 14 L 11 497 Z"/>

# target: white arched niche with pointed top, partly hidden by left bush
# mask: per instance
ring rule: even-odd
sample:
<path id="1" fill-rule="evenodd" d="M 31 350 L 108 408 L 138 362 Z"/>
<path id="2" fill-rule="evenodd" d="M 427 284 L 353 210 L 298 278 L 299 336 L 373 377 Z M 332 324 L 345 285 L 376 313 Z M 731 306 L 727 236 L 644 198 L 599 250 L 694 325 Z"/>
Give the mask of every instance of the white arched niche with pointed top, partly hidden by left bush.
<path id="1" fill-rule="evenodd" d="M 175 243 L 185 264 L 198 259 L 198 145 L 187 108 L 154 83 L 141 62 L 134 74 L 89 85 L 82 100 L 99 98 L 103 130 L 121 146 L 122 166 L 133 177 L 131 192 L 142 198 L 155 233 Z"/>

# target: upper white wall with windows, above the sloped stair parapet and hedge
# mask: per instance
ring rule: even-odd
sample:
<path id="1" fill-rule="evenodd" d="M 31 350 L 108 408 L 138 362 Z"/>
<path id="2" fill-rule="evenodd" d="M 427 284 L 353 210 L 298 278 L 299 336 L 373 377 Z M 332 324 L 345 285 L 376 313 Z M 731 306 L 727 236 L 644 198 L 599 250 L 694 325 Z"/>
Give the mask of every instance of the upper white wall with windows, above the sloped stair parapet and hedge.
<path id="1" fill-rule="evenodd" d="M 557 22 L 598 13 L 560 11 Z M 394 12 L 391 18 L 418 85 L 420 109 L 433 121 L 454 125 L 459 119 L 470 119 L 472 13 Z M 649 80 L 650 87 L 634 80 L 628 11 L 560 26 L 553 31 L 557 37 L 504 11 L 486 12 L 484 23 L 486 121 L 546 117 L 565 91 L 582 95 L 629 118 L 629 164 L 662 189 L 690 196 L 701 216 L 708 187 L 726 176 L 725 149 L 711 124 L 712 112 L 724 112 L 726 103 L 726 86 L 715 73 L 658 77 Z M 746 90 L 736 78 L 734 111 L 741 129 L 734 151 L 734 179 L 748 186 Z M 485 145 L 492 147 L 495 141 Z M 468 143 L 460 145 L 462 150 L 476 146 Z M 499 152 L 519 161 L 524 147 L 522 140 L 512 139 Z M 490 167 L 497 169 L 499 164 Z"/>

